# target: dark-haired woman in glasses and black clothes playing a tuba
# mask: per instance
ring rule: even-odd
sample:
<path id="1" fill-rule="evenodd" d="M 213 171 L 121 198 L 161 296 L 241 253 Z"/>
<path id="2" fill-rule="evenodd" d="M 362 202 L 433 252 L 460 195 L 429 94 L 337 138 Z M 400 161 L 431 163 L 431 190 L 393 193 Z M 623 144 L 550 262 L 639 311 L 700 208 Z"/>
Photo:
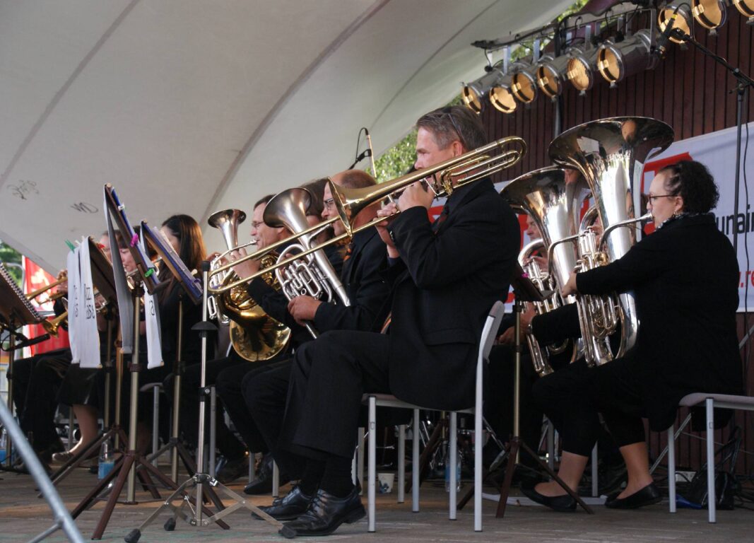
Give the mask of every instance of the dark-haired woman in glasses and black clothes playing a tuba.
<path id="1" fill-rule="evenodd" d="M 609 508 L 661 500 L 649 473 L 642 417 L 652 430 L 664 431 L 686 394 L 743 391 L 735 321 L 738 263 L 709 213 L 718 200 L 715 182 L 702 164 L 682 161 L 657 173 L 648 199 L 656 231 L 621 259 L 572 275 L 563 290 L 633 290 L 641 323 L 635 347 L 600 367 L 553 373 L 534 388 L 535 400 L 562 436 L 559 476 L 574 490 L 602 413 L 628 469 L 627 486 L 608 498 Z M 554 482 L 525 493 L 557 511 L 576 508 Z"/>

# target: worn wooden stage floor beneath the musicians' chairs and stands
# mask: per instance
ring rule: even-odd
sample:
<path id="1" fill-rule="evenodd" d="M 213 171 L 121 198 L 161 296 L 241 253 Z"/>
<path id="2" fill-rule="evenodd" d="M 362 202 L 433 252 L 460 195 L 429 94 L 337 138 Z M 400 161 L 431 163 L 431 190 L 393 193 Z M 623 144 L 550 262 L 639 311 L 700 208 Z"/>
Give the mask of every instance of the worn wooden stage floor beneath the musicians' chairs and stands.
<path id="1" fill-rule="evenodd" d="M 96 475 L 78 470 L 61 483 L 60 494 L 70 509 L 96 483 Z M 239 481 L 230 486 L 241 492 Z M 287 491 L 287 487 L 284 487 Z M 754 513 L 738 508 L 734 511 L 718 511 L 718 523 L 709 524 L 704 511 L 680 510 L 677 514 L 667 512 L 667 499 L 659 505 L 636 511 L 614 511 L 601 505 L 594 506 L 595 514 L 583 511 L 562 514 L 539 506 L 509 505 L 502 519 L 495 518 L 497 504 L 485 501 L 483 508 L 483 532 L 473 530 L 473 508 L 467 505 L 458 512 L 458 520 L 448 520 L 446 492 L 443 486 L 425 483 L 421 489 L 421 512 L 412 513 L 410 495 L 406 503 L 397 504 L 396 494 L 378 495 L 377 532 L 366 532 L 366 519 L 351 525 L 343 525 L 329 536 L 337 541 L 599 541 L 600 543 L 642 541 L 699 541 L 720 543 L 728 541 L 752 541 Z M 485 489 L 487 492 L 488 489 Z M 517 490 L 516 490 L 517 492 Z M 163 492 L 164 496 L 167 493 Z M 148 499 L 146 492 L 137 492 L 137 499 Z M 267 505 L 268 496 L 253 497 L 255 505 Z M 366 496 L 363 497 L 366 506 Z M 139 526 L 158 502 L 142 502 L 139 505 L 117 505 L 107 526 L 102 541 L 123 541 L 131 529 Z M 104 503 L 85 511 L 76 521 L 85 540 L 89 540 L 103 510 Z M 145 529 L 140 543 L 171 543 L 172 541 L 286 541 L 274 528 L 263 520 L 256 520 L 246 510 L 235 511 L 225 520 L 229 530 L 217 526 L 193 528 L 178 520 L 174 532 L 165 532 L 165 513 Z M 47 502 L 36 498 L 34 484 L 28 475 L 0 473 L 0 541 L 28 541 L 52 523 Z M 45 541 L 67 541 L 63 532 Z M 320 539 L 320 541 L 322 541 Z"/>

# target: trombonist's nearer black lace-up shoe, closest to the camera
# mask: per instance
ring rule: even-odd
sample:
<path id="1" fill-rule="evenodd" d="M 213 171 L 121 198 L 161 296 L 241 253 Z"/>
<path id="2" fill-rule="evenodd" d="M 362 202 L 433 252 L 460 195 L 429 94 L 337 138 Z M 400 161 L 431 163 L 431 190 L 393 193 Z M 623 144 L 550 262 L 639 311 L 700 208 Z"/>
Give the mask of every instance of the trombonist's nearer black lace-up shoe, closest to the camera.
<path id="1" fill-rule="evenodd" d="M 336 498 L 319 489 L 306 512 L 285 523 L 280 528 L 280 535 L 289 539 L 297 535 L 329 535 L 342 523 L 354 523 L 364 516 L 366 511 L 355 487 L 345 498 Z"/>

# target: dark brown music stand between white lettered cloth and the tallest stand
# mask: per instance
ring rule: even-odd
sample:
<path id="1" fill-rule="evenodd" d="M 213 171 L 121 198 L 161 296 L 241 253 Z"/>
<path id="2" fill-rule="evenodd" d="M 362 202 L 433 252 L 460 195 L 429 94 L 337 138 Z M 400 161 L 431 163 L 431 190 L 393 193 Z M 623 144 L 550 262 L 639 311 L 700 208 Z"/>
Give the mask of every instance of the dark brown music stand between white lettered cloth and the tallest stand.
<path id="1" fill-rule="evenodd" d="M 112 272 L 112 264 L 103 253 L 103 250 L 98 244 L 94 242 L 92 238 L 87 238 L 89 244 L 89 260 L 92 271 L 92 284 L 106 300 L 106 313 L 104 317 L 107 321 L 107 354 L 103 368 L 105 370 L 105 398 L 104 398 L 104 413 L 103 413 L 103 431 L 90 441 L 87 445 L 83 446 L 81 450 L 75 454 L 68 462 L 60 466 L 50 479 L 53 485 L 60 483 L 63 479 L 72 474 L 75 468 L 84 462 L 84 459 L 90 458 L 91 454 L 100 448 L 102 443 L 106 440 L 112 439 L 115 443 L 122 441 L 127 443 L 127 437 L 123 428 L 120 425 L 120 416 L 115 417 L 115 422 L 110 424 L 110 376 L 112 373 L 112 364 L 110 363 L 112 357 L 112 322 L 115 316 L 115 308 L 118 306 L 118 297 L 115 295 L 115 277 Z M 118 372 L 121 368 L 117 368 Z M 118 376 L 119 377 L 119 376 Z M 117 379 L 118 383 L 120 379 Z M 116 394 L 115 413 L 120 413 L 121 402 L 120 394 Z M 116 449 L 118 447 L 116 446 Z M 38 495 L 41 497 L 41 493 Z"/>

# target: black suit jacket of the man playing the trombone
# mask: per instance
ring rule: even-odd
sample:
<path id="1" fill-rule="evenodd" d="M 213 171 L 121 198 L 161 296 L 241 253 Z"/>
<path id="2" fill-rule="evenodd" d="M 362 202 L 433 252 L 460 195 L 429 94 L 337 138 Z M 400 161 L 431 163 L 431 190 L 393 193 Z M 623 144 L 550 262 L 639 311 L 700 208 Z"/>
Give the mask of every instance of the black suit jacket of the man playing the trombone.
<path id="1" fill-rule="evenodd" d="M 507 296 L 520 230 L 489 179 L 455 190 L 446 205 L 437 232 L 423 207 L 388 226 L 401 256 L 390 270 L 389 376 L 400 399 L 455 410 L 474 403 L 482 328 Z"/>

